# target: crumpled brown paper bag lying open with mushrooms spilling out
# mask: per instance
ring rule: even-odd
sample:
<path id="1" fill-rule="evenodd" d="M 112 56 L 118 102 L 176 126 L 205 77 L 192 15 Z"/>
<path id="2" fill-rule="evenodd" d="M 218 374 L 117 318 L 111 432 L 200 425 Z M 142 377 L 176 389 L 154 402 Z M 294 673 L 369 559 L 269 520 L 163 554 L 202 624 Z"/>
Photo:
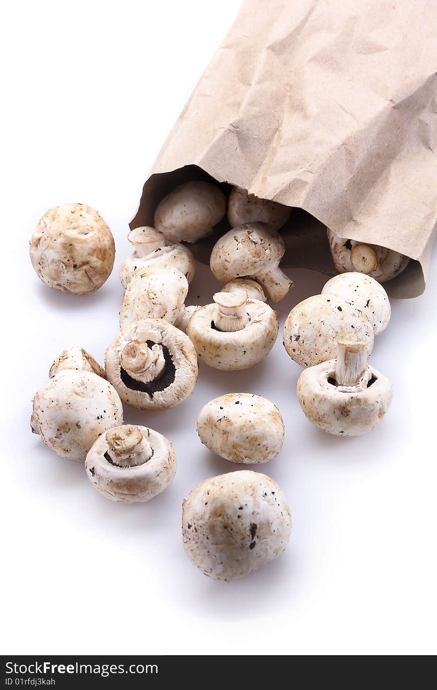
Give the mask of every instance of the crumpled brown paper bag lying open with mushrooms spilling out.
<path id="1" fill-rule="evenodd" d="M 246 0 L 131 228 L 153 224 L 175 184 L 211 176 L 307 212 L 282 230 L 282 266 L 335 273 L 329 226 L 414 259 L 387 288 L 420 295 L 437 220 L 436 35 L 435 0 Z"/>

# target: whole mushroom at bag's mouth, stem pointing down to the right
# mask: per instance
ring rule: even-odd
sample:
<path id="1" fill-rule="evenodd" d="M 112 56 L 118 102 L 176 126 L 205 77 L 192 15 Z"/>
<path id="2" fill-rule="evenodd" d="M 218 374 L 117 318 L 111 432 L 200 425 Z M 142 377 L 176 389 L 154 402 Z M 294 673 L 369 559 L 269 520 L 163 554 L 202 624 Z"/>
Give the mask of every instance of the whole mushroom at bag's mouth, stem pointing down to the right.
<path id="1" fill-rule="evenodd" d="M 273 302 L 279 302 L 293 284 L 279 268 L 284 251 L 282 237 L 269 226 L 246 223 L 220 237 L 211 253 L 210 266 L 223 282 L 237 277 L 255 278 Z"/>

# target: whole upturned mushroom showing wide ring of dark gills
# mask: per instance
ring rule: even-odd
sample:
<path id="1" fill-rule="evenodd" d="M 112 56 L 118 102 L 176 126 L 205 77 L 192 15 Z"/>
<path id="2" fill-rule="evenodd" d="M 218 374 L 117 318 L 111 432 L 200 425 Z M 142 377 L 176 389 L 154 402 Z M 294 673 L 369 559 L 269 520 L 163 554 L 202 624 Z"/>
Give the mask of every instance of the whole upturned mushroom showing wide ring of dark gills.
<path id="1" fill-rule="evenodd" d="M 123 402 L 166 410 L 190 395 L 197 380 L 193 343 L 162 319 L 135 321 L 106 350 L 106 378 Z"/>

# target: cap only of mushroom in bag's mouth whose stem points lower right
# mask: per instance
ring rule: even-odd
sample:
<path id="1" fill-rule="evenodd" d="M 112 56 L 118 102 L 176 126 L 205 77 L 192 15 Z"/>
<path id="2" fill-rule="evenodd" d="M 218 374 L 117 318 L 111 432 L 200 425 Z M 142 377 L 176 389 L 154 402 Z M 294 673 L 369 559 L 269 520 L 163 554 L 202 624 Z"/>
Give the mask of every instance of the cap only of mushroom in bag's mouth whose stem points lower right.
<path id="1" fill-rule="evenodd" d="M 282 237 L 264 223 L 246 223 L 217 240 L 210 266 L 218 280 L 255 275 L 271 264 L 278 265 L 284 255 Z"/>

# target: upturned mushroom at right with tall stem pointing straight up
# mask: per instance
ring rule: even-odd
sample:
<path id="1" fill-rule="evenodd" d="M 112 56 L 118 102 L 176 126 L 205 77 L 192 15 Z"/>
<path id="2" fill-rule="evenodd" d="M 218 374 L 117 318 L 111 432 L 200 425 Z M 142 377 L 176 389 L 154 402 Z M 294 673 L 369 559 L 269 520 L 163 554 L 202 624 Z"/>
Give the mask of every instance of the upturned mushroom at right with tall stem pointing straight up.
<path id="1" fill-rule="evenodd" d="M 362 342 L 338 342 L 336 359 L 309 366 L 298 380 L 298 400 L 310 422 L 337 436 L 372 431 L 385 417 L 393 388 L 367 364 Z"/>

